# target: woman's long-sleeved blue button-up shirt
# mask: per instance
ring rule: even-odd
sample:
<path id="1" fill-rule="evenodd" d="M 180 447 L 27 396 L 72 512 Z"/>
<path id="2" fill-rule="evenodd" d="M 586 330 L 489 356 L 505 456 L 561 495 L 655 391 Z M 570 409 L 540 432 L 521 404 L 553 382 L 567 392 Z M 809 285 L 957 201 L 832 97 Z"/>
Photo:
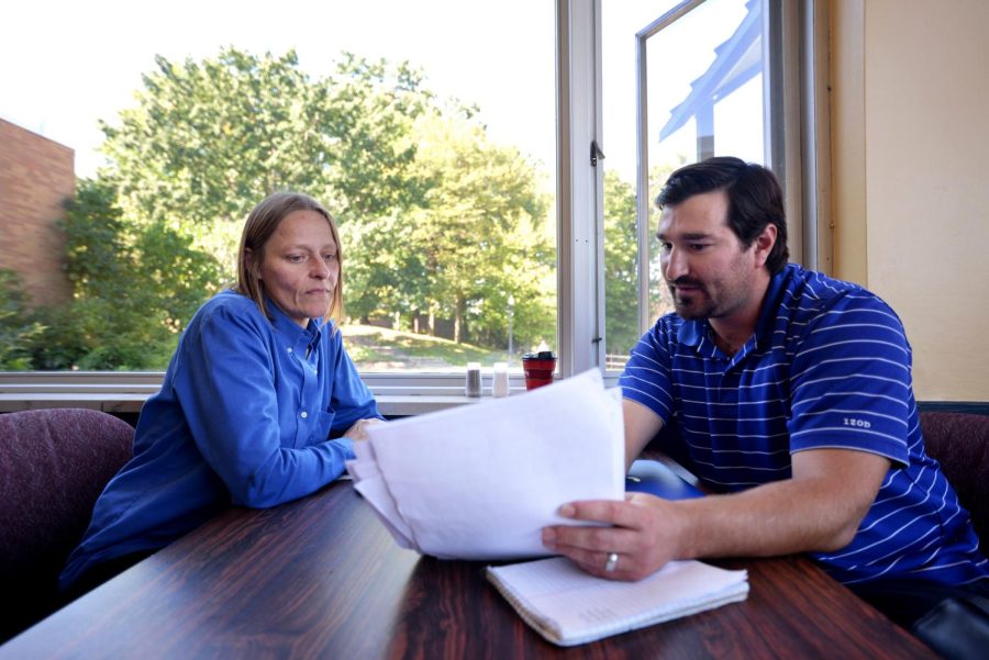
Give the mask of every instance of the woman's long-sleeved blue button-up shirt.
<path id="1" fill-rule="evenodd" d="M 380 417 L 333 326 L 303 328 L 224 291 L 189 322 L 141 412 L 134 457 L 110 481 L 60 577 L 160 548 L 231 503 L 266 507 L 336 479 L 345 433 Z"/>

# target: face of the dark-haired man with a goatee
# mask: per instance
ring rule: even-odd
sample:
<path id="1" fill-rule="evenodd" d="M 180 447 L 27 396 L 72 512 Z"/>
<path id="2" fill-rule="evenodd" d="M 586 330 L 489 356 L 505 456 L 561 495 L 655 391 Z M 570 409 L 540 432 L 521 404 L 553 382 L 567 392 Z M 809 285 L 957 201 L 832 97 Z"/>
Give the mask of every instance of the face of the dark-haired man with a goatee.
<path id="1" fill-rule="evenodd" d="M 727 224 L 729 198 L 715 190 L 667 205 L 659 219 L 663 277 L 677 313 L 724 318 L 762 303 L 766 260 L 759 240 L 747 248 Z"/>

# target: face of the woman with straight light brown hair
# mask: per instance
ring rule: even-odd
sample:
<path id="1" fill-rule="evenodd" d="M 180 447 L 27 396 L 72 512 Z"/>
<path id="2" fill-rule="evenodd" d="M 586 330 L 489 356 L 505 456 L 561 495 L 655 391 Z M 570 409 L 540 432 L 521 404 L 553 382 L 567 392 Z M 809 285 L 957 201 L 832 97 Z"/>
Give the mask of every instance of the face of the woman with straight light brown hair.
<path id="1" fill-rule="evenodd" d="M 326 219 L 308 210 L 286 215 L 265 243 L 258 277 L 268 298 L 300 326 L 325 316 L 340 281 L 337 245 Z"/>

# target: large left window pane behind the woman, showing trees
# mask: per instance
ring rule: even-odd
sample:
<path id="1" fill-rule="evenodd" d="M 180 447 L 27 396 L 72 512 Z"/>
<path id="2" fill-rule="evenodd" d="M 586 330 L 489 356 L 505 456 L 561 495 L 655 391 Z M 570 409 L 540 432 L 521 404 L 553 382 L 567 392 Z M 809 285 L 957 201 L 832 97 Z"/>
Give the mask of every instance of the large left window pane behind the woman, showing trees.
<path id="1" fill-rule="evenodd" d="M 510 353 L 518 368 L 555 348 L 552 2 L 54 4 L 7 18 L 0 57 L 19 66 L 0 72 L 0 116 L 75 149 L 76 203 L 64 258 L 18 260 L 4 244 L 0 307 L 15 313 L 0 335 L 16 350 L 0 369 L 164 368 L 234 278 L 246 213 L 279 189 L 337 217 L 360 369 Z M 4 206 L 37 186 L 7 180 Z M 57 202 L 32 231 L 58 235 L 53 214 Z M 37 268 L 68 292 L 45 295 Z"/>

